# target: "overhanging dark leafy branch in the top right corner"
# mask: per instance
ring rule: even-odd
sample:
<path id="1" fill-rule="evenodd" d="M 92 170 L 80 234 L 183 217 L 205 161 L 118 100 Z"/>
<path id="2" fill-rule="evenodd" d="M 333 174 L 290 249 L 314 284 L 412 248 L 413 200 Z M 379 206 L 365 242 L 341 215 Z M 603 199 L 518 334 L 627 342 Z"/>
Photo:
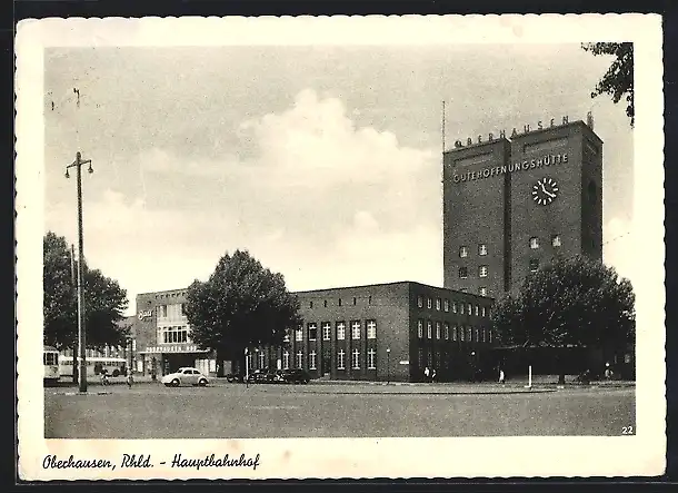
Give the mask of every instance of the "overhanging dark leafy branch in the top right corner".
<path id="1" fill-rule="evenodd" d="M 634 43 L 632 42 L 589 42 L 581 48 L 594 56 L 608 55 L 616 57 L 607 72 L 596 85 L 591 98 L 602 93 L 612 97 L 615 103 L 626 96 L 626 115 L 635 122 L 634 112 Z"/>

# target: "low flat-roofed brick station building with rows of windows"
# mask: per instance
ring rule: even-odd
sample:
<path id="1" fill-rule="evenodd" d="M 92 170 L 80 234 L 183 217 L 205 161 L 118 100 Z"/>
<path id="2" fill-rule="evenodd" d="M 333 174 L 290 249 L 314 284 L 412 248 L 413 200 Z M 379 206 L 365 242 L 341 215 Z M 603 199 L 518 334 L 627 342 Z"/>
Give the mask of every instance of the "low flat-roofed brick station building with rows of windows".
<path id="1" fill-rule="evenodd" d="M 487 367 L 492 298 L 412 282 L 296 295 L 302 324 L 280 347 L 252 348 L 250 371 L 303 368 L 313 378 L 418 382 L 426 367 L 438 381 L 477 378 Z M 181 289 L 137 297 L 136 344 L 143 373 L 196 366 L 215 374 L 216 354 L 192 343 L 185 303 Z M 220 366 L 240 372 L 243 363 L 245 355 Z"/>

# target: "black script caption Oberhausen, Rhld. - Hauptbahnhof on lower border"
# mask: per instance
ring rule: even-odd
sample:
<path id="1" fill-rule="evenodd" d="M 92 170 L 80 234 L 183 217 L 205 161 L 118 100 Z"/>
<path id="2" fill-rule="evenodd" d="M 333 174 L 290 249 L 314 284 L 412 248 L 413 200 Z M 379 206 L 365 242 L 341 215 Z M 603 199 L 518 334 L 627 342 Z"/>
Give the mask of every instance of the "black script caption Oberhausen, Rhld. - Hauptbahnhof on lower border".
<path id="1" fill-rule="evenodd" d="M 157 464 L 171 469 L 195 469 L 196 471 L 209 467 L 251 467 L 252 471 L 257 471 L 257 467 L 260 465 L 259 460 L 259 454 L 255 456 L 247 456 L 245 454 L 240 454 L 240 456 L 210 454 L 205 457 L 189 457 L 182 454 L 175 454 L 171 461 L 159 461 Z M 120 469 L 148 469 L 154 467 L 156 462 L 150 454 L 122 454 L 122 457 L 117 462 L 107 459 L 80 459 L 73 455 L 69 455 L 68 459 L 58 457 L 57 455 L 46 455 L 42 460 L 42 469 L 48 470 L 108 469 L 114 471 L 117 466 Z"/>

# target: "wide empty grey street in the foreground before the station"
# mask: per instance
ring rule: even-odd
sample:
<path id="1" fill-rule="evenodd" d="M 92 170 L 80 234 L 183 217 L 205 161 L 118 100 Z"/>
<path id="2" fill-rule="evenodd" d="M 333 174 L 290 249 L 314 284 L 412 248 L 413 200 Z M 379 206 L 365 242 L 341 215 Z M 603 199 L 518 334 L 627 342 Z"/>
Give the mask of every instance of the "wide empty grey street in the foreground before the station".
<path id="1" fill-rule="evenodd" d="M 44 390 L 47 438 L 610 435 L 636 428 L 635 388 L 157 383 Z"/>

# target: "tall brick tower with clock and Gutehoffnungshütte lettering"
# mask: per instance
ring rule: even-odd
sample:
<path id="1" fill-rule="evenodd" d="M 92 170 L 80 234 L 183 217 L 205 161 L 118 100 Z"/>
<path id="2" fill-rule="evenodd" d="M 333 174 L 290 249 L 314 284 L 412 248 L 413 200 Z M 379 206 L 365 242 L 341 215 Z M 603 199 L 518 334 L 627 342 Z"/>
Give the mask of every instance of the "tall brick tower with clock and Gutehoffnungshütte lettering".
<path id="1" fill-rule="evenodd" d="M 443 155 L 443 286 L 499 297 L 556 256 L 602 258 L 602 141 L 538 124 Z"/>

